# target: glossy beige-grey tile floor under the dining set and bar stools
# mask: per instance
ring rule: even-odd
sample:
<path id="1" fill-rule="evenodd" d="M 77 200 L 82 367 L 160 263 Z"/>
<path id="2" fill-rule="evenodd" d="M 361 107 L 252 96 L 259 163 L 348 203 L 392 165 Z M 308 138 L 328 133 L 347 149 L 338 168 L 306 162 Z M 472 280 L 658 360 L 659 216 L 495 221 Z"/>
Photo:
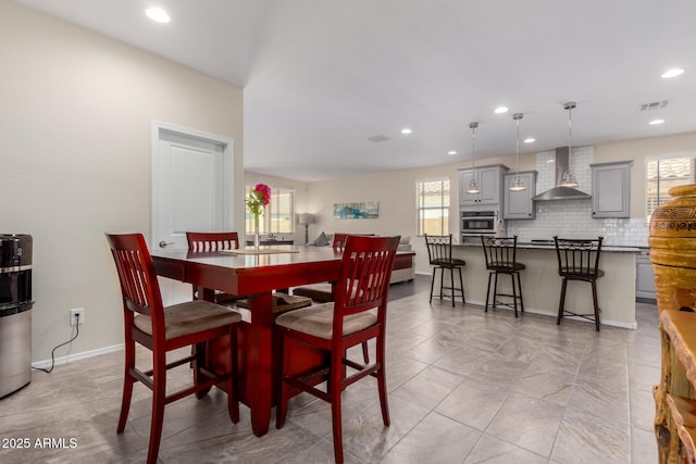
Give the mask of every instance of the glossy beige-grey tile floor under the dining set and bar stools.
<path id="1" fill-rule="evenodd" d="M 430 280 L 393 287 L 384 427 L 372 379 L 345 393 L 350 463 L 656 463 L 650 389 L 659 379 L 655 305 L 637 330 L 511 311 L 427 302 Z M 145 359 L 145 358 L 144 358 Z M 1 463 L 139 463 L 147 455 L 149 390 L 136 386 L 126 431 L 115 432 L 122 353 L 34 372 L 0 401 Z M 188 381 L 183 369 L 171 381 Z M 361 385 L 363 384 L 363 385 Z M 249 414 L 228 421 L 224 393 L 167 406 L 163 463 L 333 462 L 326 403 L 298 397 L 286 426 L 257 438 Z M 11 439 L 29 438 L 28 449 Z M 37 448 L 36 438 L 53 439 Z M 60 439 L 63 439 L 61 441 Z M 73 439 L 71 441 L 71 439 Z M 14 443 L 16 444 L 16 442 Z"/>

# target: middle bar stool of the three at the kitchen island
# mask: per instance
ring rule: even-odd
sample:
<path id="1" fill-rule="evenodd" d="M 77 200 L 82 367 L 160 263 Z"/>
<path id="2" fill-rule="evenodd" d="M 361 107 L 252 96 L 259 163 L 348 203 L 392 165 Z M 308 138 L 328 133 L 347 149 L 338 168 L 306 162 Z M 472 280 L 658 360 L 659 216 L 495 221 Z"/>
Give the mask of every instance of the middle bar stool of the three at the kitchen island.
<path id="1" fill-rule="evenodd" d="M 514 309 L 514 317 L 518 316 L 518 301 L 520 309 L 524 312 L 524 300 L 522 299 L 522 284 L 520 281 L 520 271 L 526 268 L 522 263 L 517 261 L 518 236 L 513 237 L 484 237 L 481 236 L 481 244 L 483 253 L 486 258 L 486 269 L 488 269 L 488 287 L 486 289 L 486 310 L 488 312 L 488 302 L 490 297 L 490 278 L 495 275 L 493 285 L 493 308 L 497 304 Z M 498 275 L 507 274 L 512 280 L 512 294 L 498 292 Z M 515 288 L 517 280 L 517 288 Z M 498 297 L 512 298 L 509 303 L 498 301 Z"/>

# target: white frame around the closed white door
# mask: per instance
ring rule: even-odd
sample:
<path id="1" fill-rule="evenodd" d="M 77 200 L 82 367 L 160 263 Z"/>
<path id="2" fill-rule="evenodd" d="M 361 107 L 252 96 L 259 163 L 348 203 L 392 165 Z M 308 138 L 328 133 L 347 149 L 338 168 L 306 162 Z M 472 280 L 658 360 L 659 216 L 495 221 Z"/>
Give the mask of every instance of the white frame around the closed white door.
<path id="1" fill-rule="evenodd" d="M 150 248 L 158 243 L 159 230 L 157 221 L 157 196 L 159 191 L 159 177 L 158 173 L 158 156 L 159 156 L 159 143 L 161 141 L 160 134 L 162 131 L 173 133 L 181 137 L 186 137 L 196 140 L 202 140 L 210 143 L 220 145 L 223 148 L 223 226 L 227 230 L 234 230 L 235 218 L 235 202 L 232 199 L 235 196 L 234 192 L 234 178 L 235 178 L 235 150 L 234 139 L 219 136 L 215 134 L 209 134 L 201 130 L 190 129 L 188 127 L 176 126 L 174 124 L 163 123 L 161 121 L 152 121 L 151 126 L 151 148 L 150 148 L 150 162 L 151 162 L 151 186 L 150 186 Z"/>

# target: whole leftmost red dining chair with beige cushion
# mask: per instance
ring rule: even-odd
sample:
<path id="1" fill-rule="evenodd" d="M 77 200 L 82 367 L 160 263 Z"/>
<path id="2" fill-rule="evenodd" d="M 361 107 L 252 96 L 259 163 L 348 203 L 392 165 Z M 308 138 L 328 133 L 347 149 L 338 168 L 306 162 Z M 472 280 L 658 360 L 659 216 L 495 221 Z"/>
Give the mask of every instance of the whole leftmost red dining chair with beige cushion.
<path id="1" fill-rule="evenodd" d="M 209 390 L 213 385 L 226 383 L 227 409 L 233 423 L 239 422 L 237 390 L 237 326 L 241 315 L 229 308 L 208 301 L 195 300 L 164 308 L 152 258 L 140 234 L 109 235 L 123 298 L 125 327 L 125 373 L 117 432 L 125 429 L 133 385 L 140 381 L 152 390 L 152 419 L 148 463 L 157 462 L 162 436 L 164 406 L 188 394 Z M 203 367 L 206 342 L 229 336 L 229 371 L 214 373 Z M 152 352 L 152 368 L 136 367 L 135 343 Z M 166 361 L 166 353 L 182 347 L 191 347 L 191 354 L 176 361 Z M 166 394 L 166 372 L 191 363 L 194 385 Z"/>

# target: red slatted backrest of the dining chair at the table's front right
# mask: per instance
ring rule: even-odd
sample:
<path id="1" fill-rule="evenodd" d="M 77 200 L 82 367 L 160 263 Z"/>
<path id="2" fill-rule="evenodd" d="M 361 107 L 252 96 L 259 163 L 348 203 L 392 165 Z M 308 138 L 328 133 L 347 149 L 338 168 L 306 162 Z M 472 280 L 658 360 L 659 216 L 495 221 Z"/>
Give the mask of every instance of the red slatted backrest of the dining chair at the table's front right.
<path id="1" fill-rule="evenodd" d="M 384 321 L 389 278 L 400 237 L 349 236 L 336 283 L 334 334 L 343 333 L 343 317 L 377 308 Z M 339 327 L 336 327 L 339 324 Z M 336 331 L 338 330 L 338 331 Z"/>

